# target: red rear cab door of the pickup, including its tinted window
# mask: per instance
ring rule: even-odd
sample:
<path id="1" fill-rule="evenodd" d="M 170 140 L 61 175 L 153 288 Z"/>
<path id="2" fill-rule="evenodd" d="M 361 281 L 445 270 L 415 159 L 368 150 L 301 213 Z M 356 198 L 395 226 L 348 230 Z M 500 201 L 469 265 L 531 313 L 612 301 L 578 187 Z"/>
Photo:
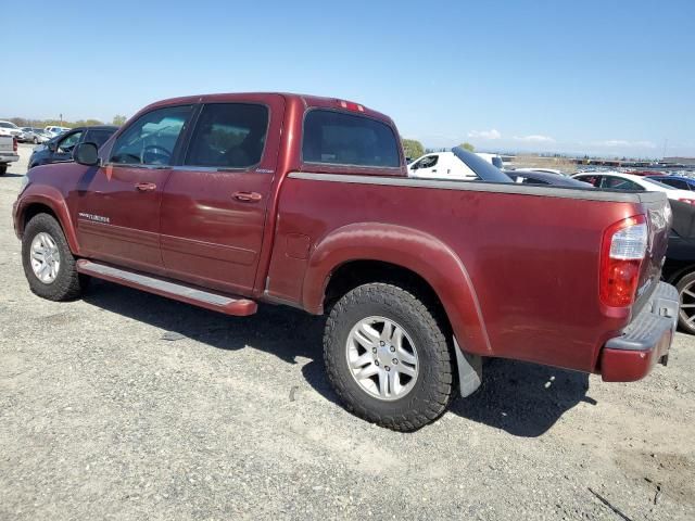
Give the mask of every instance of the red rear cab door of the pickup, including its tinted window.
<path id="1" fill-rule="evenodd" d="M 164 191 L 162 257 L 168 277 L 248 295 L 261 256 L 285 99 L 213 100 L 202 105 Z"/>

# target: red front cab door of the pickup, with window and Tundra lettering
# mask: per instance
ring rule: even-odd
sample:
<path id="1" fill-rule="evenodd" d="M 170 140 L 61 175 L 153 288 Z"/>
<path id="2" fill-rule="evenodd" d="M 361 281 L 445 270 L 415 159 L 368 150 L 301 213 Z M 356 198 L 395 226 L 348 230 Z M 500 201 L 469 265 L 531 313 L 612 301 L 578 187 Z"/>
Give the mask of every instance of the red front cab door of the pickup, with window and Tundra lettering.
<path id="1" fill-rule="evenodd" d="M 136 119 L 87 169 L 77 191 L 77 234 L 86 256 L 160 274 L 160 209 L 179 136 L 192 105 L 156 109 Z"/>

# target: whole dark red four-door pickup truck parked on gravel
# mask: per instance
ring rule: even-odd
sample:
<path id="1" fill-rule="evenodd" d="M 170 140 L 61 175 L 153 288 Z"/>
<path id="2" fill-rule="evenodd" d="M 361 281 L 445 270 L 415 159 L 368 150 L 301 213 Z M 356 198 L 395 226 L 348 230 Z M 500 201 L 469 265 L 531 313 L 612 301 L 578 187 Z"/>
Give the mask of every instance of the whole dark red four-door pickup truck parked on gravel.
<path id="1" fill-rule="evenodd" d="M 75 163 L 33 168 L 14 205 L 31 290 L 89 277 L 220 313 L 327 315 L 346 408 L 412 431 L 505 357 L 643 378 L 666 363 L 675 290 L 659 282 L 661 193 L 407 177 L 393 122 L 281 93 L 154 103 Z"/>

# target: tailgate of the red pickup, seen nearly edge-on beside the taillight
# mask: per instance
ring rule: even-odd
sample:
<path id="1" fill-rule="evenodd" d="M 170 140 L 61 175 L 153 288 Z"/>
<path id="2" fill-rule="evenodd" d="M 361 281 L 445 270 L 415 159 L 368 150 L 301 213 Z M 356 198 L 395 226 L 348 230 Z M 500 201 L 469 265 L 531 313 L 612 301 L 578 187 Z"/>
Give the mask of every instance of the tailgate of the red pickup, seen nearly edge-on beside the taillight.
<path id="1" fill-rule="evenodd" d="M 640 284 L 637 287 L 637 297 L 633 314 L 642 309 L 645 302 L 649 300 L 649 295 L 657 287 L 661 278 L 661 266 L 666 250 L 669 245 L 669 230 L 671 228 L 671 207 L 669 201 L 664 194 L 656 201 L 642 203 L 647 217 L 649 228 L 649 242 L 647 253 L 642 263 L 642 272 L 640 274 Z"/>

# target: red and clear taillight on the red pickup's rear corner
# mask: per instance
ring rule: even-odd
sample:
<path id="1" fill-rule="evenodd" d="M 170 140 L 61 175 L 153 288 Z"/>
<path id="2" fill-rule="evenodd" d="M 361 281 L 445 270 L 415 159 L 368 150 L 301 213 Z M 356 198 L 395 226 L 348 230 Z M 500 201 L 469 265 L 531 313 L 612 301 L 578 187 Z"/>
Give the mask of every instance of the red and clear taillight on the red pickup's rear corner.
<path id="1" fill-rule="evenodd" d="M 632 305 L 649 230 L 644 215 L 628 217 L 604 232 L 601 249 L 601 302 L 610 307 Z"/>

